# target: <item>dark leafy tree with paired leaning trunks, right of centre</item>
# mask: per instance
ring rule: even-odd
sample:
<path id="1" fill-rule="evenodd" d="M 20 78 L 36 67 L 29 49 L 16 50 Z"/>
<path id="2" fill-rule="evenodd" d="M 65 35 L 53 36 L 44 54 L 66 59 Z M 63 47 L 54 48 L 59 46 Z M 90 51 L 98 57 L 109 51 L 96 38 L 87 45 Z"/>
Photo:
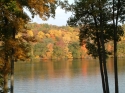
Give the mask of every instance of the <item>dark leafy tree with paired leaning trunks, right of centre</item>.
<path id="1" fill-rule="evenodd" d="M 109 52 L 105 49 L 105 43 L 114 39 L 113 24 L 109 23 L 112 20 L 110 6 L 108 0 L 78 0 L 72 5 L 74 15 L 68 20 L 70 26 L 80 27 L 80 43 L 86 44 L 88 54 L 99 57 L 104 93 L 109 93 L 106 67 L 106 56 Z M 123 30 L 121 26 L 117 28 L 118 41 Z"/>

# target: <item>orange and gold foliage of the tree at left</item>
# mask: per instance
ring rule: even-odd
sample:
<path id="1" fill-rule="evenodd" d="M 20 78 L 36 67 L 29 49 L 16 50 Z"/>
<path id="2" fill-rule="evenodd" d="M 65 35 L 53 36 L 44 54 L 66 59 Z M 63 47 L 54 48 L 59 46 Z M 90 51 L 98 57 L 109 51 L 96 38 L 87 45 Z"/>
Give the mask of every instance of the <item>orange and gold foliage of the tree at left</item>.
<path id="1" fill-rule="evenodd" d="M 27 58 L 30 47 L 26 44 L 27 40 L 32 40 L 32 31 L 29 33 L 28 38 L 21 37 L 15 38 L 19 32 L 25 32 L 25 24 L 30 21 L 29 16 L 24 11 L 24 8 L 29 10 L 32 17 L 39 15 L 43 20 L 48 19 L 50 16 L 55 16 L 56 8 L 55 0 L 1 0 L 0 1 L 0 43 L 1 43 L 1 59 L 4 61 L 3 67 L 7 69 L 6 64 L 11 62 L 11 76 L 14 72 L 14 61 L 17 59 L 24 60 Z M 27 40 L 24 40 L 27 39 Z M 25 42 L 24 42 L 25 41 Z M 5 70 L 4 70 L 5 71 Z M 6 72 L 6 71 L 5 71 Z M 9 73 L 9 72 L 8 72 Z M 4 75 L 4 78 L 7 74 Z M 6 80 L 4 80 L 5 82 Z M 11 84 L 13 80 L 11 80 Z M 4 84 L 4 92 L 7 91 L 7 82 Z M 11 87 L 13 93 L 13 87 Z"/>

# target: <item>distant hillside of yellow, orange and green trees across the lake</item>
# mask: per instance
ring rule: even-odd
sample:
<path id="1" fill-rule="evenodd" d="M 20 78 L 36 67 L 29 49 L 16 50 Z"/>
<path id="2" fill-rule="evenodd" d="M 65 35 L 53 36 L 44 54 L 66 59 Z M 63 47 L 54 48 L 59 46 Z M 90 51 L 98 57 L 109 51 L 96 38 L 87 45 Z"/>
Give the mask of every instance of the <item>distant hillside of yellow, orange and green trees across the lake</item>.
<path id="1" fill-rule="evenodd" d="M 125 28 L 125 26 L 123 25 Z M 26 32 L 18 33 L 16 38 L 25 38 L 31 46 L 29 56 L 41 59 L 91 58 L 85 45 L 79 45 L 79 29 L 69 26 L 29 23 Z M 111 52 L 112 41 L 106 45 Z M 118 43 L 118 57 L 125 56 L 125 36 Z"/>

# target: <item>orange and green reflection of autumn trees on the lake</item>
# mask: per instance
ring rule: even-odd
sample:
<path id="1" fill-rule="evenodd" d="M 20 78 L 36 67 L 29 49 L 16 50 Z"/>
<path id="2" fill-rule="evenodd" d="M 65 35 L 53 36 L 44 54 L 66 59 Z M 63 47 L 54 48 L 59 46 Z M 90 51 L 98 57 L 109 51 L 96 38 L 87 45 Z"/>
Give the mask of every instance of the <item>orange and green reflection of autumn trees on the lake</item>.
<path id="1" fill-rule="evenodd" d="M 124 59 L 119 59 L 119 74 L 124 73 L 124 66 Z M 107 67 L 108 72 L 113 74 L 113 59 L 107 60 Z M 99 63 L 97 59 L 42 60 L 39 62 L 15 63 L 15 77 L 18 79 L 72 78 L 79 75 L 90 77 L 99 74 Z"/>

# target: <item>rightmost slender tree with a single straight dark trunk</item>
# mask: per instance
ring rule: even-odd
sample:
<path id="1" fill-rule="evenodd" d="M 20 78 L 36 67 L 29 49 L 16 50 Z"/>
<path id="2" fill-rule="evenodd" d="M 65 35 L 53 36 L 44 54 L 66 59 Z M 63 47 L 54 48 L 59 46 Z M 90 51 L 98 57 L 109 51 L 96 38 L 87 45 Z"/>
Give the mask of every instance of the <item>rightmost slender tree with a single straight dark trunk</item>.
<path id="1" fill-rule="evenodd" d="M 117 67 L 117 34 L 118 23 L 123 23 L 125 19 L 125 1 L 112 0 L 112 21 L 114 26 L 114 74 L 115 74 L 115 93 L 119 93 L 118 88 L 118 67 Z"/>

